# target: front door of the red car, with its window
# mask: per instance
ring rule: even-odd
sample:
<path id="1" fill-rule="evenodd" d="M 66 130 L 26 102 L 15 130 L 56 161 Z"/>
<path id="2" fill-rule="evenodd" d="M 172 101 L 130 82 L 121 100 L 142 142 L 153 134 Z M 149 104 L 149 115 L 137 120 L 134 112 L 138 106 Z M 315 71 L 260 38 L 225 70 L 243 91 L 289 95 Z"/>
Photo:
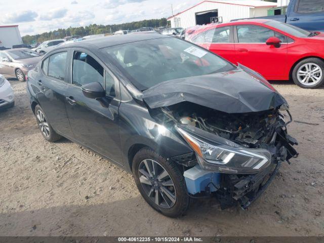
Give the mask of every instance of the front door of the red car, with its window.
<path id="1" fill-rule="evenodd" d="M 280 47 L 266 45 L 269 37 L 281 38 Z M 237 62 L 257 71 L 267 79 L 285 79 L 287 37 L 259 25 L 234 26 Z"/>

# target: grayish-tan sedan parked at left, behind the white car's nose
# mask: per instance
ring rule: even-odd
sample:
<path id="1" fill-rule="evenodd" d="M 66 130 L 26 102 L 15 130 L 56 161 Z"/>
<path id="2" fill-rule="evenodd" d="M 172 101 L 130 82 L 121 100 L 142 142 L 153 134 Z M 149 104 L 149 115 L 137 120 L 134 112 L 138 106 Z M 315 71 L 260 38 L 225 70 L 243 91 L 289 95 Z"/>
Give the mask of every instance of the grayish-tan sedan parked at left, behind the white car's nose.
<path id="1" fill-rule="evenodd" d="M 39 60 L 41 55 L 27 48 L 0 51 L 0 73 L 24 82 L 26 73 L 34 68 Z"/>

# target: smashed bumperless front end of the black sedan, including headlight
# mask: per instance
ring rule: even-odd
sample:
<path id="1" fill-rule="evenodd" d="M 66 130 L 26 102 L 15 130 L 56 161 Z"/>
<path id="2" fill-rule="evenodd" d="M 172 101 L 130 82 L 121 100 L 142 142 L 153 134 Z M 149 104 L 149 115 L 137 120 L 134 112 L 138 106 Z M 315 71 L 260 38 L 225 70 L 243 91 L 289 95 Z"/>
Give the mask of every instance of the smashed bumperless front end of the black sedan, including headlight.
<path id="1" fill-rule="evenodd" d="M 191 195 L 205 196 L 206 193 L 215 192 L 222 208 L 230 207 L 238 201 L 245 209 L 270 184 L 280 163 L 290 163 L 289 159 L 298 155 L 292 147 L 297 141 L 287 134 L 286 128 L 292 117 L 288 110 L 285 117 L 278 108 L 250 113 L 225 113 L 198 104 L 181 102 L 152 109 L 151 115 L 165 127 L 178 126 L 178 132 L 182 131 L 182 136 L 192 136 L 192 140 L 198 138 L 196 141 L 207 141 L 204 139 L 206 138 L 216 141 L 216 138 L 221 137 L 224 144 L 232 146 L 216 144 L 206 148 L 209 144 L 200 141 L 197 146 L 200 147 L 201 153 L 191 144 L 197 158 L 196 163 L 193 163 L 194 156 L 189 155 L 177 156 L 174 159 L 184 168 L 184 177 Z M 201 131 L 204 131 L 204 134 Z M 183 138 L 190 145 L 186 135 Z M 231 141 L 232 144 L 226 141 Z M 241 157 L 233 155 L 235 149 Z M 244 152 L 247 157 L 249 154 L 257 154 L 260 158 L 247 158 L 245 161 Z M 267 164 L 262 164 L 266 159 Z M 236 166 L 233 162 L 231 165 L 228 163 L 231 160 L 238 164 L 242 160 L 244 163 Z M 258 163 L 262 165 L 258 166 Z M 228 167 L 225 167 L 226 165 Z M 253 168 L 247 170 L 247 167 Z M 255 172 L 253 169 L 256 169 Z"/>

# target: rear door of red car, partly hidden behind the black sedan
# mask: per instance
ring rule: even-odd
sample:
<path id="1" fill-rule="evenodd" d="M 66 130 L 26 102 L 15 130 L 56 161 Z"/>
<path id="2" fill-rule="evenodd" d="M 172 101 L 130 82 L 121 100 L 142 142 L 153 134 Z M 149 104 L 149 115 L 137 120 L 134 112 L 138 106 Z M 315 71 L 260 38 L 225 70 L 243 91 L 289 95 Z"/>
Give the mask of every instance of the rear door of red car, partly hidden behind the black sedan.
<path id="1" fill-rule="evenodd" d="M 236 64 L 234 38 L 232 33 L 232 26 L 213 28 L 197 34 L 192 41 L 195 44 Z"/>

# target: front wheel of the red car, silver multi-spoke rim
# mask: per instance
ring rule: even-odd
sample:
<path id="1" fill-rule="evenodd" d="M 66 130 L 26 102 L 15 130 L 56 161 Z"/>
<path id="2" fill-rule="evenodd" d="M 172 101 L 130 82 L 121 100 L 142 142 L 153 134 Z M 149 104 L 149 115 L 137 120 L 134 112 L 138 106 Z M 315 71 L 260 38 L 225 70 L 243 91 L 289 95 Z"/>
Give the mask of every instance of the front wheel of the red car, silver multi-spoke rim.
<path id="1" fill-rule="evenodd" d="M 304 59 L 294 67 L 292 76 L 299 87 L 316 89 L 324 84 L 324 62 L 318 58 Z"/>

